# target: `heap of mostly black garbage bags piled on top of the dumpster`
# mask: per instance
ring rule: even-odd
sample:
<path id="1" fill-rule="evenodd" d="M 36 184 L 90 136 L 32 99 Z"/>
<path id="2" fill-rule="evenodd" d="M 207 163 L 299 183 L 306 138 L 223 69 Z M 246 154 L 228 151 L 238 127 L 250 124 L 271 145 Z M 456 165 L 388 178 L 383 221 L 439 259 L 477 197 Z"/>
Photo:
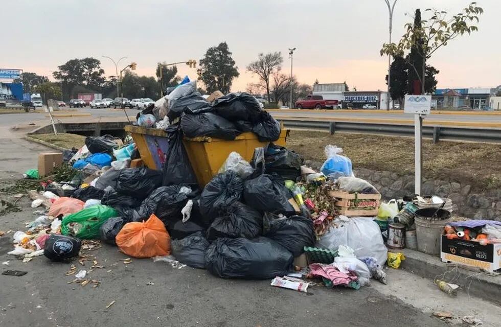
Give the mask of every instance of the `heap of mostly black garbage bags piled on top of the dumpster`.
<path id="1" fill-rule="evenodd" d="M 197 91 L 196 81 L 188 77 L 177 87 L 168 88 L 163 98 L 136 118 L 141 127 L 166 129 L 175 124 L 187 137 L 232 140 L 243 132 L 254 132 L 259 141 L 274 142 L 281 132 L 280 123 L 262 110 L 253 96 L 245 92 L 222 96 L 216 91 L 206 100 Z"/>

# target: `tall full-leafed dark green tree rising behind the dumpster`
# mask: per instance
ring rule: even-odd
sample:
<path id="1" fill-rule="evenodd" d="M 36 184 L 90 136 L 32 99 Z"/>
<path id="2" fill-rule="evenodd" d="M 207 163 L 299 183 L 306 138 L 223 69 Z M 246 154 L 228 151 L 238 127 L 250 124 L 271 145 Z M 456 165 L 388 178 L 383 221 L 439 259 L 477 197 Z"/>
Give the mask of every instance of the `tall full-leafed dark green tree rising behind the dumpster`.
<path id="1" fill-rule="evenodd" d="M 206 86 L 207 92 L 230 92 L 233 79 L 238 77 L 238 67 L 226 42 L 207 49 L 205 56 L 199 60 L 198 79 Z"/>

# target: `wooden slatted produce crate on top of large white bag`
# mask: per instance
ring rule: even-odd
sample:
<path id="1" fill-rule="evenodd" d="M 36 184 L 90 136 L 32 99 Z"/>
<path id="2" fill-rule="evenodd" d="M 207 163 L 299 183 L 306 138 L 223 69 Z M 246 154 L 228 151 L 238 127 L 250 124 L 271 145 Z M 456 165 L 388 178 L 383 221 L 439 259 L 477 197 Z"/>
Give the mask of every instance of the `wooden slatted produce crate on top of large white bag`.
<path id="1" fill-rule="evenodd" d="M 329 191 L 328 196 L 333 199 L 333 205 L 340 215 L 348 217 L 373 217 L 377 215 L 381 194 L 359 194 L 343 191 Z M 375 207 L 374 209 L 364 209 Z"/>

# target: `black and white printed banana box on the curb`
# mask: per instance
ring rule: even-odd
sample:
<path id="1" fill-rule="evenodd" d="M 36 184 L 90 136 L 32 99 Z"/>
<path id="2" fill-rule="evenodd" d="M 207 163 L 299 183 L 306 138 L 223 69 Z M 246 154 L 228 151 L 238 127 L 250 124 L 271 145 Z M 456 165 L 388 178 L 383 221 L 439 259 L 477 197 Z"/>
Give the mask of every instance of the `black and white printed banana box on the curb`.
<path id="1" fill-rule="evenodd" d="M 494 271 L 501 268 L 501 244 L 482 245 L 475 241 L 440 239 L 440 259 L 459 265 Z"/>

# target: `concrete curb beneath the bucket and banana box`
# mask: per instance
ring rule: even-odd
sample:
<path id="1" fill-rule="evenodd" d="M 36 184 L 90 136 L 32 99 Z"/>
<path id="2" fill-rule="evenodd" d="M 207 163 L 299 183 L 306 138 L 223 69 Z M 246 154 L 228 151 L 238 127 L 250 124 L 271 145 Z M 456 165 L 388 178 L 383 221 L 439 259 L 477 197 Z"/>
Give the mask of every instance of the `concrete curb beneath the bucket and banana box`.
<path id="1" fill-rule="evenodd" d="M 397 252 L 393 251 L 392 252 Z M 491 301 L 496 305 L 501 305 L 501 275 L 489 276 L 485 273 L 457 268 L 443 263 L 438 256 L 432 256 L 422 252 L 403 249 L 405 260 L 400 266 L 402 269 L 417 274 L 425 278 L 435 279 L 435 277 L 446 273 L 445 280 L 450 281 L 454 278 L 452 283 L 458 284 L 461 289 L 476 297 L 483 298 Z M 452 271 L 454 269 L 454 271 Z"/>

